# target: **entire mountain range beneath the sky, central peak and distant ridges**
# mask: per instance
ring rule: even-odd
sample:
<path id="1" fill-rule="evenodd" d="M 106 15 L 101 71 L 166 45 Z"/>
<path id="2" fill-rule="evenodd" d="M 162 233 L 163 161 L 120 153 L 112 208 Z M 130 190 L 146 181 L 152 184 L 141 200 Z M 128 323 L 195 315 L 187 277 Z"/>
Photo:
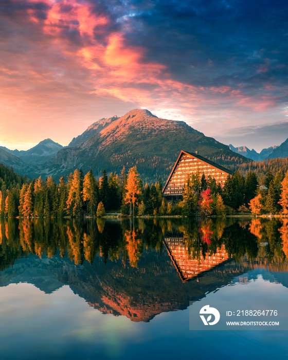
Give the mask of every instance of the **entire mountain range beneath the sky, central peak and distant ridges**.
<path id="1" fill-rule="evenodd" d="M 285 144 L 286 143 L 286 144 Z M 27 151 L 0 147 L 0 163 L 13 166 L 28 177 L 53 176 L 58 179 L 76 168 L 93 170 L 95 176 L 120 173 L 137 166 L 143 181 L 164 181 L 181 150 L 198 152 L 231 170 L 249 159 L 288 156 L 287 140 L 279 147 L 263 149 L 260 154 L 246 147 L 234 148 L 207 137 L 184 121 L 161 119 L 148 110 L 132 110 L 124 116 L 102 118 L 63 148 L 51 139 Z M 276 153 L 277 150 L 277 153 Z"/>

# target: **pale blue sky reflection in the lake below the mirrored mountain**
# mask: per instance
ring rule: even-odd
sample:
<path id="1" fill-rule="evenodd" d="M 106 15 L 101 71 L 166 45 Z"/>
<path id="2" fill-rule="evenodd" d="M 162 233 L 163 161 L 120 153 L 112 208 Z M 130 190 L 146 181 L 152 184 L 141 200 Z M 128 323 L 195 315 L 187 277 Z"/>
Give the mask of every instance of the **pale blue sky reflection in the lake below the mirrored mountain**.
<path id="1" fill-rule="evenodd" d="M 233 282 L 204 299 L 287 299 L 286 287 L 253 273 L 248 283 Z M 31 284 L 10 284 L 0 295 L 3 360 L 268 359 L 276 354 L 283 359 L 288 350 L 286 332 L 189 331 L 189 309 L 159 314 L 148 323 L 103 315 L 67 285 L 45 294 Z"/>

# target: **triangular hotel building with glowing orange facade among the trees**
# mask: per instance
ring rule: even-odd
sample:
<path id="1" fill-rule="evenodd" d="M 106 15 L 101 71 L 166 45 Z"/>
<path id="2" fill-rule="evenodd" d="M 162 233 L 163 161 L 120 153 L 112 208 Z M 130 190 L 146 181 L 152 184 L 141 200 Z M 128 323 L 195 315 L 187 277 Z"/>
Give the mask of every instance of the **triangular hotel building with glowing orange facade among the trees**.
<path id="1" fill-rule="evenodd" d="M 223 186 L 227 176 L 232 174 L 232 172 L 203 156 L 182 150 L 164 186 L 163 195 L 182 195 L 187 178 L 192 174 L 199 174 L 200 177 L 202 174 L 205 174 L 206 177 L 210 175 L 217 184 Z"/>

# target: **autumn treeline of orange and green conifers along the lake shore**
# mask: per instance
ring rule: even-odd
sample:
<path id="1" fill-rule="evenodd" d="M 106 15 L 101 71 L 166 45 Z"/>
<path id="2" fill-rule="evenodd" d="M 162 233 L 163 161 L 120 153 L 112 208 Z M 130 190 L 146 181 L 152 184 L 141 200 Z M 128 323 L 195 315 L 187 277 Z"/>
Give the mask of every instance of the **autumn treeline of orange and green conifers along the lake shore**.
<path id="1" fill-rule="evenodd" d="M 59 184 L 49 176 L 30 182 L 15 183 L 0 190 L 0 217 L 101 217 L 106 212 L 123 215 L 227 215 L 237 211 L 259 213 L 288 213 L 288 175 L 283 171 L 276 176 L 266 172 L 260 185 L 256 173 L 244 178 L 239 171 L 229 175 L 224 187 L 204 174 L 191 175 L 182 196 L 167 200 L 162 195 L 163 184 L 143 186 L 136 167 L 128 173 L 123 167 L 120 176 L 103 170 L 99 181 L 92 170 L 86 173 L 75 170 Z M 285 190 L 285 186 L 287 190 Z M 287 199 L 286 199 L 287 198 Z M 256 209 L 256 210 L 255 210 Z"/>

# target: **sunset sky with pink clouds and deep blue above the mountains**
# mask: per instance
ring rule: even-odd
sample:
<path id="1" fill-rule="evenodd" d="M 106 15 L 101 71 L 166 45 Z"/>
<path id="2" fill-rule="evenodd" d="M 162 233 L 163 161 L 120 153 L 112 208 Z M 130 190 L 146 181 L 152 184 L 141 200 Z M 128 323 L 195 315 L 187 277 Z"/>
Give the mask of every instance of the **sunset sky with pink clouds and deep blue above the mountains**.
<path id="1" fill-rule="evenodd" d="M 0 0 L 0 145 L 133 109 L 261 151 L 288 138 L 286 0 Z"/>

